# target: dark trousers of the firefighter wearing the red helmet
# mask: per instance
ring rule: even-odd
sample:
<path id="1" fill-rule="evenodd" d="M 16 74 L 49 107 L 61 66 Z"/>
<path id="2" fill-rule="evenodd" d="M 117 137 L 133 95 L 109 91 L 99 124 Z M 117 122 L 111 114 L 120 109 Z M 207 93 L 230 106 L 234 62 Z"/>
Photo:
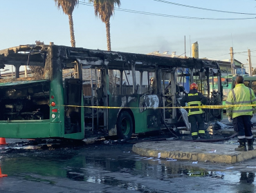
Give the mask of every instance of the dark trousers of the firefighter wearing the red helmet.
<path id="1" fill-rule="evenodd" d="M 190 123 L 191 123 L 192 136 L 198 132 L 199 132 L 199 136 L 200 136 L 200 134 L 205 134 L 202 114 L 192 114 L 192 115 L 188 116 L 188 121 L 190 121 Z"/>

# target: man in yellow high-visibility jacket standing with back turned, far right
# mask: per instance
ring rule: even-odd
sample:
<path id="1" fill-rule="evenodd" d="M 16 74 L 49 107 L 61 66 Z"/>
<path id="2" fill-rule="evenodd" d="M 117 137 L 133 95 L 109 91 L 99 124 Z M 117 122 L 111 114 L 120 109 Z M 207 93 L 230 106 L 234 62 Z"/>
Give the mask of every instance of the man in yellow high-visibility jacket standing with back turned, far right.
<path id="1" fill-rule="evenodd" d="M 227 108 L 228 121 L 233 123 L 234 130 L 238 134 L 239 146 L 236 151 L 246 151 L 246 139 L 248 142 L 248 150 L 253 150 L 253 132 L 250 119 L 256 112 L 255 94 L 252 89 L 244 85 L 244 77 L 238 76 L 235 82 L 235 88 L 230 90 L 226 105 L 238 105 Z"/>

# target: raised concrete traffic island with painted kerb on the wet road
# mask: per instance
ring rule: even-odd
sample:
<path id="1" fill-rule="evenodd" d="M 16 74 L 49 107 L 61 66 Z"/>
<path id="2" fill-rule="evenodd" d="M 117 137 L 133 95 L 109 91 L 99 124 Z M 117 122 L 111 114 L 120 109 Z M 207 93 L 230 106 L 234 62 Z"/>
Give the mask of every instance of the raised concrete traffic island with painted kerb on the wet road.
<path id="1" fill-rule="evenodd" d="M 235 151 L 237 145 L 202 143 L 190 141 L 152 141 L 134 144 L 132 150 L 141 156 L 212 163 L 237 163 L 256 157 L 256 150 Z M 216 152 L 214 152 L 216 150 Z"/>

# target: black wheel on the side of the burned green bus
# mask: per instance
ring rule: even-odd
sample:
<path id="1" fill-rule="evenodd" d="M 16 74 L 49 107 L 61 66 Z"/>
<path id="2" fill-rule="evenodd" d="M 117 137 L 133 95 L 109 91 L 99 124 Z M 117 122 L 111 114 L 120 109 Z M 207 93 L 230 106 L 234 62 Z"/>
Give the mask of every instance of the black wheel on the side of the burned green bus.
<path id="1" fill-rule="evenodd" d="M 131 119 L 131 115 L 127 111 L 123 111 L 118 116 L 118 121 L 116 122 L 117 132 L 119 139 L 130 139 L 132 131 L 134 129 L 134 124 Z"/>

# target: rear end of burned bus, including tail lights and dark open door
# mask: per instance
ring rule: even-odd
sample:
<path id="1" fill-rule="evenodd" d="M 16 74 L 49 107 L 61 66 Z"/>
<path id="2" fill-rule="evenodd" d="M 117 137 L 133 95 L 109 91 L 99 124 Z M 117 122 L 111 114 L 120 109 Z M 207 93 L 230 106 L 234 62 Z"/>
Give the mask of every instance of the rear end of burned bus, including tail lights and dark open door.
<path id="1" fill-rule="evenodd" d="M 1 74 L 0 137 L 84 139 L 81 73 L 77 63 L 56 60 L 58 52 L 58 46 L 43 44 L 0 51 L 2 67 L 15 68 Z"/>

